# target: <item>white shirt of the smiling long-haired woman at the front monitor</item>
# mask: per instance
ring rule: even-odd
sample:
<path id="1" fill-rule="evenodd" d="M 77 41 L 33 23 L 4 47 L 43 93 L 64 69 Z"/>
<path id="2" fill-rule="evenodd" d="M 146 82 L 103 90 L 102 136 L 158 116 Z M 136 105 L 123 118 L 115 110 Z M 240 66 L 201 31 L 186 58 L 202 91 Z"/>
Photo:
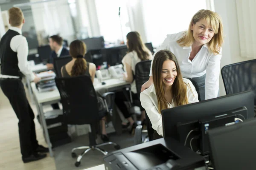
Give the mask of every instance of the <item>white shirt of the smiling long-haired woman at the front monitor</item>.
<path id="1" fill-rule="evenodd" d="M 183 78 L 183 81 L 187 86 L 188 103 L 199 102 L 198 94 L 192 82 L 185 78 Z M 140 102 L 150 119 L 153 129 L 156 130 L 159 135 L 163 136 L 162 115 L 158 111 L 158 101 L 154 83 L 140 94 Z M 175 107 L 175 104 L 172 100 L 172 104 L 169 103 L 169 108 L 173 107 Z"/>

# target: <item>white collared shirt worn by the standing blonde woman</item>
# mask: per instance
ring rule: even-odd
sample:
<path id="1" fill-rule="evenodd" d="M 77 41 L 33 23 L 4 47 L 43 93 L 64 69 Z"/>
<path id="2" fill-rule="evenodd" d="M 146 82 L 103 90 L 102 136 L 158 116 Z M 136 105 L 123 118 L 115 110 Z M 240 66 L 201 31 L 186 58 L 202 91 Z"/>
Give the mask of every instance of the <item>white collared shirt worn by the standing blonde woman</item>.
<path id="1" fill-rule="evenodd" d="M 182 77 L 195 78 L 206 74 L 205 99 L 217 97 L 219 91 L 221 54 L 214 55 L 210 53 L 208 45 L 205 44 L 202 46 L 198 54 L 196 54 L 195 58 L 190 61 L 189 56 L 192 51 L 192 47 L 180 47 L 180 45 L 178 45 L 176 42 L 184 35 L 183 33 L 184 32 L 179 32 L 177 34 L 167 35 L 166 39 L 163 41 L 163 44 L 157 48 L 157 51 L 167 49 L 175 54 L 180 65 Z M 157 51 L 154 53 L 154 55 L 157 53 Z M 152 76 L 152 62 L 149 75 Z"/>

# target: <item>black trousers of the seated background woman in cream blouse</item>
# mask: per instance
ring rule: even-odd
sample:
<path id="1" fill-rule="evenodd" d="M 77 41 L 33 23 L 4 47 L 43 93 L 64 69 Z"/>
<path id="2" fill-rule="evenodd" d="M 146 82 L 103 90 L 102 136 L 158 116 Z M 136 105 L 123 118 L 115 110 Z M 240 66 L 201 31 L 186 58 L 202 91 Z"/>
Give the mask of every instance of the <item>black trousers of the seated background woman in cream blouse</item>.
<path id="1" fill-rule="evenodd" d="M 124 93 L 127 94 L 127 96 L 129 97 L 128 99 L 127 99 L 127 97 L 125 97 Z M 130 100 L 130 94 L 128 93 L 128 91 L 124 91 L 124 92 L 123 91 L 118 91 L 118 92 L 115 93 L 115 96 L 116 96 L 116 98 L 115 98 L 116 106 L 123 113 L 124 117 L 126 119 L 131 117 L 131 114 L 128 111 L 128 108 L 126 107 L 125 102 L 124 102 L 124 101 Z M 137 94 L 131 93 L 131 96 L 132 96 L 133 100 L 138 100 Z"/>

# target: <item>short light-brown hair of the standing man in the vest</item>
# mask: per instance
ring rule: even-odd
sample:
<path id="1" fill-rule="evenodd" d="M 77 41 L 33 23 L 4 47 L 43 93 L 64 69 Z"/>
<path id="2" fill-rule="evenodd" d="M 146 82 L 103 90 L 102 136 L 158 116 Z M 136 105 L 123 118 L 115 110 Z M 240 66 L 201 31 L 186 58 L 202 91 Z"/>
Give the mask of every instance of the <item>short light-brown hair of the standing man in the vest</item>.
<path id="1" fill-rule="evenodd" d="M 9 22 L 11 26 L 20 26 L 23 22 L 24 15 L 20 8 L 12 7 L 9 9 Z"/>

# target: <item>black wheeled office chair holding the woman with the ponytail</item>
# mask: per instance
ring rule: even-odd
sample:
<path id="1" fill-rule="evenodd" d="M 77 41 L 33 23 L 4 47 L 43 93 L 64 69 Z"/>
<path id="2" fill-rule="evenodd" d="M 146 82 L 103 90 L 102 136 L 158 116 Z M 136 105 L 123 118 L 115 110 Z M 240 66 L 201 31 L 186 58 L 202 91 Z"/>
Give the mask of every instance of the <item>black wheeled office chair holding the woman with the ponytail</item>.
<path id="1" fill-rule="evenodd" d="M 57 88 L 61 95 L 63 106 L 63 121 L 65 124 L 70 125 L 84 125 L 89 124 L 89 146 L 75 147 L 72 149 L 72 157 L 76 157 L 74 153 L 77 149 L 86 149 L 76 160 L 76 167 L 80 165 L 81 158 L 89 150 L 98 150 L 104 155 L 108 152 L 99 148 L 107 144 L 113 144 L 116 149 L 120 149 L 119 145 L 114 142 L 106 142 L 96 144 L 96 125 L 103 116 L 112 113 L 112 105 L 114 100 L 114 93 L 108 92 L 102 95 L 105 103 L 105 109 L 99 112 L 98 100 L 93 83 L 90 77 L 65 77 L 55 78 Z M 111 94 L 111 105 L 108 106 L 106 96 Z M 102 107 L 101 107 L 102 108 Z"/>

